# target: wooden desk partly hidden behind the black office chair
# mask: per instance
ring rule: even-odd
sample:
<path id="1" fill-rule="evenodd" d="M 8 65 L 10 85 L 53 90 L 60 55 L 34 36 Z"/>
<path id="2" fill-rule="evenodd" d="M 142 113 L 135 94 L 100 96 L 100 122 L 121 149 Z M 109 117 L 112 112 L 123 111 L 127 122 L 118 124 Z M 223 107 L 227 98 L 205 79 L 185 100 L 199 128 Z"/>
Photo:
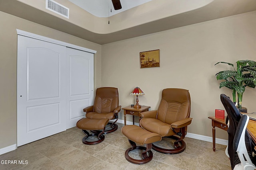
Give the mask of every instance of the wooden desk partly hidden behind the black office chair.
<path id="1" fill-rule="evenodd" d="M 225 131 L 228 130 L 228 125 L 226 125 L 226 117 L 224 119 L 218 119 L 216 117 L 208 117 L 209 119 L 212 119 L 212 149 L 215 151 L 215 127 L 218 127 L 220 129 L 223 129 Z M 256 144 L 256 121 L 250 119 L 247 125 L 247 130 L 250 134 L 250 137 L 252 138 L 252 141 L 254 145 Z M 256 147 L 254 147 L 254 150 L 256 150 Z"/>

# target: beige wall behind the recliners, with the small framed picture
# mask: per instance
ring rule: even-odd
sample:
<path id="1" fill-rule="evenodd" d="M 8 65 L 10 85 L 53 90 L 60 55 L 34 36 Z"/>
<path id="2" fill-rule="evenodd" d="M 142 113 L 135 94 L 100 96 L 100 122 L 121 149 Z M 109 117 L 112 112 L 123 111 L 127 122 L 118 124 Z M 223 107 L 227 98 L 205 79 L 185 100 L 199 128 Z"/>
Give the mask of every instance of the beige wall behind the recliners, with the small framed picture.
<path id="1" fill-rule="evenodd" d="M 220 94 L 231 96 L 229 89 L 219 89 L 215 77 L 228 67 L 214 64 L 256 60 L 255 18 L 256 12 L 250 12 L 102 45 L 102 86 L 118 88 L 122 107 L 135 103 L 129 94 L 138 86 L 146 94 L 139 96 L 139 104 L 152 110 L 158 107 L 162 89 L 188 89 L 193 117 L 188 132 L 212 137 L 208 116 L 224 109 Z M 160 67 L 140 68 L 139 53 L 155 49 L 160 49 Z M 243 106 L 249 112 L 256 111 L 255 96 L 256 89 L 246 89 Z M 127 119 L 132 121 L 129 115 Z M 225 131 L 217 128 L 216 133 L 227 139 Z"/>

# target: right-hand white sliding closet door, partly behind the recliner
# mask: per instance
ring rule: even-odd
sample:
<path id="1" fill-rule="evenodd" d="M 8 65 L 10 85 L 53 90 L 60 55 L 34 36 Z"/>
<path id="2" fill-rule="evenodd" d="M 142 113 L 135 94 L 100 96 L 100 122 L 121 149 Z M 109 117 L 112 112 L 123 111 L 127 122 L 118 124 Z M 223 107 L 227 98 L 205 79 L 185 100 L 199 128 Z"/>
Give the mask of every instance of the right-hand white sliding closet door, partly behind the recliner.
<path id="1" fill-rule="evenodd" d="M 94 100 L 94 54 L 66 49 L 67 90 L 67 129 L 76 126 L 76 122 L 85 117 L 84 107 L 91 106 Z"/>

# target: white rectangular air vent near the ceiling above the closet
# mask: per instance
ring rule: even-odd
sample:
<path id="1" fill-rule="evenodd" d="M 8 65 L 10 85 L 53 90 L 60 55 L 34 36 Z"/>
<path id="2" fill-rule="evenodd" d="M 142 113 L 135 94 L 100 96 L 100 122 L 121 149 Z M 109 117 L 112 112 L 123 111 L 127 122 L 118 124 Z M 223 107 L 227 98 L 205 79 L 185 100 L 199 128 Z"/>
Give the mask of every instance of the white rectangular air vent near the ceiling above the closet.
<path id="1" fill-rule="evenodd" d="M 64 16 L 66 18 L 69 18 L 69 8 L 53 0 L 46 0 L 46 9 L 55 12 L 61 16 Z"/>

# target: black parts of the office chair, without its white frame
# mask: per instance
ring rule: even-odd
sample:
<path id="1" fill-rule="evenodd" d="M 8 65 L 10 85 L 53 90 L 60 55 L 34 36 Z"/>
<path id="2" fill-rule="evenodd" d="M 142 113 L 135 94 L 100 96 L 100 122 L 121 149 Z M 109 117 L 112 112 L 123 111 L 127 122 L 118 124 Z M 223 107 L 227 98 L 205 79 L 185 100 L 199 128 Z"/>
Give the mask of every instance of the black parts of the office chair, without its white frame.
<path id="1" fill-rule="evenodd" d="M 238 123 L 239 123 L 242 115 L 241 115 L 240 111 L 236 108 L 235 104 L 230 100 L 230 98 L 228 96 L 226 96 L 225 94 L 221 94 L 220 100 L 228 114 L 227 119 L 226 119 L 226 123 L 228 123 L 228 120 L 229 120 L 227 150 L 228 150 L 228 156 L 230 158 L 231 168 L 233 170 L 234 167 L 236 166 L 236 164 L 241 163 L 238 153 L 234 149 L 233 143 L 234 143 L 234 137 L 236 134 L 236 130 L 238 128 Z M 246 143 L 246 149 L 248 151 L 248 155 L 249 155 L 250 159 L 252 160 L 253 159 L 252 150 L 253 150 L 254 146 L 252 144 L 250 135 L 248 134 L 247 131 L 245 132 L 245 143 Z"/>

